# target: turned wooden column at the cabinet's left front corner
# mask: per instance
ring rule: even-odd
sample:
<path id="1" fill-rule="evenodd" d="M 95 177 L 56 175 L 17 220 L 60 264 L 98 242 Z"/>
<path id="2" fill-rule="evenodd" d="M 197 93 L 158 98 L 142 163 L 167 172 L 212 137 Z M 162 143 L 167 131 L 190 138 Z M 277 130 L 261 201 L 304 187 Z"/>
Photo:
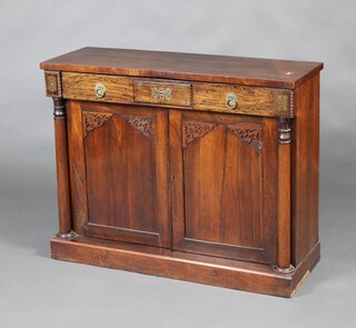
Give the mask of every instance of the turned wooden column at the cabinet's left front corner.
<path id="1" fill-rule="evenodd" d="M 59 219 L 59 232 L 56 236 L 60 239 L 72 239 L 76 233 L 71 229 L 65 100 L 62 98 L 53 98 L 53 109 Z"/>

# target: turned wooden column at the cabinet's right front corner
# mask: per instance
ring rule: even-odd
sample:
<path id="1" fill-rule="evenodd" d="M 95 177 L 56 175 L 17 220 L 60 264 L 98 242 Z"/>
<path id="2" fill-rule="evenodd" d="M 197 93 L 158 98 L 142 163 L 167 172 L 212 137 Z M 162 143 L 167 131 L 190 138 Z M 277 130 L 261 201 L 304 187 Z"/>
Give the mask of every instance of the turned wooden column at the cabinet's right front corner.
<path id="1" fill-rule="evenodd" d="M 277 270 L 290 274 L 290 119 L 279 118 L 278 128 Z"/>

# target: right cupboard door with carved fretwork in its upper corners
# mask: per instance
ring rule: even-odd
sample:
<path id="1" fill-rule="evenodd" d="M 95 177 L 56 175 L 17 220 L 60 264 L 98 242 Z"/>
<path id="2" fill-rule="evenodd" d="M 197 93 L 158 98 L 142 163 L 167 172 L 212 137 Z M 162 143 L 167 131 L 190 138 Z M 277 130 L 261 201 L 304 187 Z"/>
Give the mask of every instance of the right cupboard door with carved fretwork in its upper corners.
<path id="1" fill-rule="evenodd" d="M 274 262 L 276 120 L 171 110 L 169 123 L 174 248 Z"/>

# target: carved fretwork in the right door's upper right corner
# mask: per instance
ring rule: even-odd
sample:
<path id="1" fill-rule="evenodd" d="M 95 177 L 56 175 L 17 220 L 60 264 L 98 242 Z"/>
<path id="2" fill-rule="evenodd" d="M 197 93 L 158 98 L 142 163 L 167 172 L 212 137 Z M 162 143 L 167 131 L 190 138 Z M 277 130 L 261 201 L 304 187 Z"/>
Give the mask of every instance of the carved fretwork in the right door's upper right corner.
<path id="1" fill-rule="evenodd" d="M 241 123 L 228 126 L 231 133 L 236 135 L 241 141 L 256 148 L 258 155 L 263 151 L 263 129 L 258 125 Z"/>

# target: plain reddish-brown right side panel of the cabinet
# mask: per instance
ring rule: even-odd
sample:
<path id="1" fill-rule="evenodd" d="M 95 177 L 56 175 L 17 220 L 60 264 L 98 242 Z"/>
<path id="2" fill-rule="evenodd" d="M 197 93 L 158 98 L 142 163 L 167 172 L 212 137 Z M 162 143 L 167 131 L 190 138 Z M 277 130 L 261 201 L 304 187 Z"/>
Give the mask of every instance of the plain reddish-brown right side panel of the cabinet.
<path id="1" fill-rule="evenodd" d="M 318 242 L 319 74 L 295 90 L 291 140 L 291 262 Z"/>

